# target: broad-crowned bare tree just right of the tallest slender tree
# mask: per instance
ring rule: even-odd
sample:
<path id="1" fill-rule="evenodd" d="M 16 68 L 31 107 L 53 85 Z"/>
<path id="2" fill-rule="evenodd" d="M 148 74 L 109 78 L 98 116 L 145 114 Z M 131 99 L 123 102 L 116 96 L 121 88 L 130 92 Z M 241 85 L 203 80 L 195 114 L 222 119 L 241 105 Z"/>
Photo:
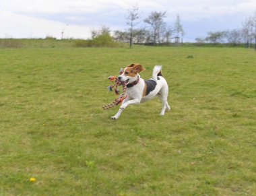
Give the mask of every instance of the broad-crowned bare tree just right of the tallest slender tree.
<path id="1" fill-rule="evenodd" d="M 155 45 L 160 40 L 160 30 L 165 26 L 163 18 L 166 17 L 166 11 L 153 11 L 148 18 L 144 20 L 147 24 L 150 24 L 152 28 L 152 42 Z"/>

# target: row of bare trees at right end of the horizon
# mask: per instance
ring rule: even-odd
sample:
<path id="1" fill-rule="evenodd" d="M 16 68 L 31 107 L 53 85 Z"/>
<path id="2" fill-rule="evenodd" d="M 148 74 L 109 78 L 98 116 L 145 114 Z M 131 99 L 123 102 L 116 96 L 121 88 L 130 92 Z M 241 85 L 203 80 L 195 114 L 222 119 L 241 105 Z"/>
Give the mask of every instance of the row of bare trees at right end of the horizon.
<path id="1" fill-rule="evenodd" d="M 195 40 L 198 44 L 203 42 L 245 44 L 247 47 L 252 47 L 254 44 L 256 49 L 256 12 L 243 22 L 240 29 L 208 32 L 205 38 Z"/>

